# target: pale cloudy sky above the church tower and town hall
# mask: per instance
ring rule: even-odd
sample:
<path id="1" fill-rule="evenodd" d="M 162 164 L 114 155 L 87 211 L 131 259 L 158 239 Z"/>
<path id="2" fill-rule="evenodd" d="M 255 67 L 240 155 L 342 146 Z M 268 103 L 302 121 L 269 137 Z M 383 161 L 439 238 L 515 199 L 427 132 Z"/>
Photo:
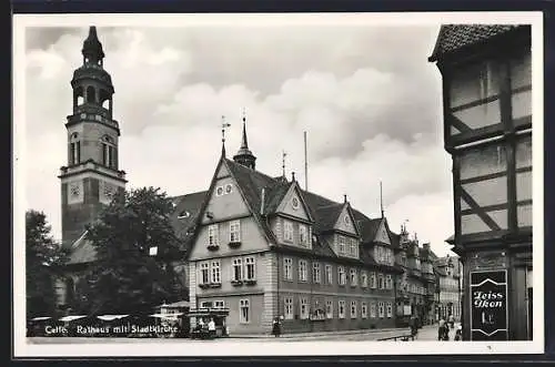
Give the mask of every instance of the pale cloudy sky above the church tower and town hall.
<path id="1" fill-rule="evenodd" d="M 240 146 L 242 111 L 256 169 L 295 172 L 304 187 L 371 217 L 383 206 L 443 256 L 453 234 L 451 157 L 441 74 L 427 62 L 438 26 L 98 27 L 115 94 L 128 187 L 204 191 L 221 153 Z M 70 80 L 88 24 L 26 30 L 26 196 L 61 237 Z"/>

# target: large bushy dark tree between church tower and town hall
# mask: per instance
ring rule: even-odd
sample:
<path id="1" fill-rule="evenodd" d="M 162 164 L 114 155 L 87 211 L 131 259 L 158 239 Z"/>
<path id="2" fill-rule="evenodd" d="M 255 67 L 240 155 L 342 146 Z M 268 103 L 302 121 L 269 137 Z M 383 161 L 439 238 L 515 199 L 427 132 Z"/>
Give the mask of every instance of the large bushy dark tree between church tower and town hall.
<path id="1" fill-rule="evenodd" d="M 152 312 L 176 297 L 170 261 L 179 254 L 171 225 L 173 204 L 160 188 L 118 192 L 88 228 L 97 262 L 78 284 L 77 298 L 91 314 Z M 150 248 L 158 247 L 157 256 Z"/>

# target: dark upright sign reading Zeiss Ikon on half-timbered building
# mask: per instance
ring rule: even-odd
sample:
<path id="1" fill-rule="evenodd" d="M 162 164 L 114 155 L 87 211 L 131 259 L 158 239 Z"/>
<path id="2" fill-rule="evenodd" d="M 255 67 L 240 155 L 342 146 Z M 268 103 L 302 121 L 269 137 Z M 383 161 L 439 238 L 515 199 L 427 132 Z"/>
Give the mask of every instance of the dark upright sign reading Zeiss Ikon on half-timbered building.
<path id="1" fill-rule="evenodd" d="M 472 272 L 472 340 L 507 340 L 507 272 Z"/>

